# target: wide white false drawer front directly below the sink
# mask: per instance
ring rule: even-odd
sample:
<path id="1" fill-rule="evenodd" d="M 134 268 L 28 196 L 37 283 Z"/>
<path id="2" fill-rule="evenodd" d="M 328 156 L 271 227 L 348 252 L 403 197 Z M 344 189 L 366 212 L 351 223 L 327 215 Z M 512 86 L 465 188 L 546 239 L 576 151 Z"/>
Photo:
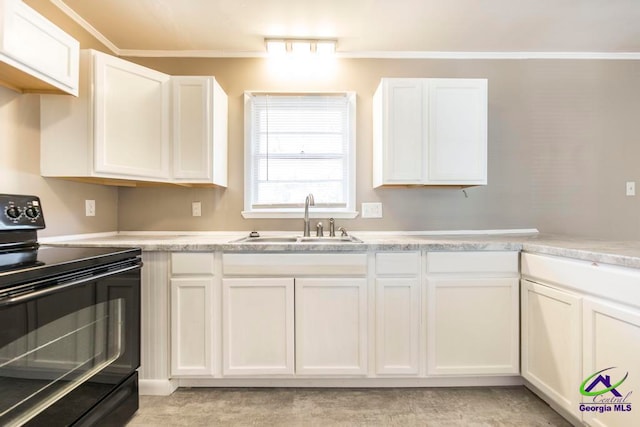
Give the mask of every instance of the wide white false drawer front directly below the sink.
<path id="1" fill-rule="evenodd" d="M 366 254 L 223 254 L 225 276 L 364 276 Z"/>

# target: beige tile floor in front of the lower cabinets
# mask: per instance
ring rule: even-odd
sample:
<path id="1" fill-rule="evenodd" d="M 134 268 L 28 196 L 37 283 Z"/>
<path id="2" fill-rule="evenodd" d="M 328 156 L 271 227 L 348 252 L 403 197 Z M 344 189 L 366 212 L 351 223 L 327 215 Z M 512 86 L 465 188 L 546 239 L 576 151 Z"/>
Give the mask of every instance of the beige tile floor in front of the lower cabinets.
<path id="1" fill-rule="evenodd" d="M 570 426 L 524 387 L 186 388 L 128 426 Z"/>

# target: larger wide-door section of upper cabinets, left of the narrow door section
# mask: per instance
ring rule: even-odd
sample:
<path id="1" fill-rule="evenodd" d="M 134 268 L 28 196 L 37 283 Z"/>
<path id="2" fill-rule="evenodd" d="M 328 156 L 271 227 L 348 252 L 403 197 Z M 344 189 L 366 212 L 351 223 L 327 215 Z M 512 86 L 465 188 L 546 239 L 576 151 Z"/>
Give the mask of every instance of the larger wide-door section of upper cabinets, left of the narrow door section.
<path id="1" fill-rule="evenodd" d="M 94 50 L 81 66 L 78 98 L 41 97 L 41 174 L 168 181 L 170 76 Z"/>

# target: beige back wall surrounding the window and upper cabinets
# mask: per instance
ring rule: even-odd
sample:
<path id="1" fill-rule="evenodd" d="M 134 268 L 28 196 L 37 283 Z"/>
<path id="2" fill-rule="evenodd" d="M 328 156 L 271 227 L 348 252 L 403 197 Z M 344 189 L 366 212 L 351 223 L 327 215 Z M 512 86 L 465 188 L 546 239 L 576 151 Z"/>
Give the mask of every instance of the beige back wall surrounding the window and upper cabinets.
<path id="1" fill-rule="evenodd" d="M 131 60 L 169 74 L 214 75 L 229 96 L 229 187 L 119 191 L 121 230 L 298 230 L 300 221 L 245 220 L 245 90 L 357 92 L 357 203 L 382 219 L 339 220 L 352 230 L 537 227 L 640 238 L 640 65 L 591 60 L 338 60 L 333 70 L 275 69 L 267 59 Z M 371 186 L 371 102 L 381 77 L 489 79 L 489 185 L 467 190 Z M 201 201 L 203 216 L 190 204 Z M 145 214 L 139 214 L 144 212 Z"/>

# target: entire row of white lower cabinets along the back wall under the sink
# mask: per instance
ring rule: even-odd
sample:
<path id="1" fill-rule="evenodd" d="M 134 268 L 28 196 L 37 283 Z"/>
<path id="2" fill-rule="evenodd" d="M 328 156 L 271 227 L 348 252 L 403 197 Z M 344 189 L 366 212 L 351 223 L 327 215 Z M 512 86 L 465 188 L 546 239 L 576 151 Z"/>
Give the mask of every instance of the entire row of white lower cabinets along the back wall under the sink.
<path id="1" fill-rule="evenodd" d="M 170 279 L 181 384 L 519 373 L 517 252 L 185 252 Z"/>

